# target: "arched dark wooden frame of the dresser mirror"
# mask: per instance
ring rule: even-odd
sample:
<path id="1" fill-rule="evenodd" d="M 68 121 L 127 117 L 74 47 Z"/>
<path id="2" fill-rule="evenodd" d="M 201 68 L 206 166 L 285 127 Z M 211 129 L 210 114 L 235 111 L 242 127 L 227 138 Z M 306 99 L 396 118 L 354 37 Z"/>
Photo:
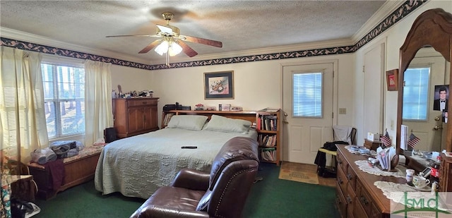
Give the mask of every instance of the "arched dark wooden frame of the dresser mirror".
<path id="1" fill-rule="evenodd" d="M 412 24 L 410 32 L 400 47 L 399 56 L 399 75 L 398 75 L 398 108 L 397 108 L 397 133 L 396 148 L 398 154 L 402 154 L 400 149 L 400 130 L 402 125 L 403 111 L 403 78 L 405 70 L 414 59 L 417 51 L 422 47 L 431 46 L 437 52 L 441 53 L 446 61 L 451 62 L 452 50 L 452 14 L 444 11 L 442 8 L 435 8 L 424 11 L 416 18 Z M 450 69 L 452 74 L 452 65 Z M 452 76 L 449 84 L 452 84 Z M 451 114 L 452 107 L 449 105 L 448 114 Z M 446 150 L 452 151 L 452 121 L 447 123 Z"/>

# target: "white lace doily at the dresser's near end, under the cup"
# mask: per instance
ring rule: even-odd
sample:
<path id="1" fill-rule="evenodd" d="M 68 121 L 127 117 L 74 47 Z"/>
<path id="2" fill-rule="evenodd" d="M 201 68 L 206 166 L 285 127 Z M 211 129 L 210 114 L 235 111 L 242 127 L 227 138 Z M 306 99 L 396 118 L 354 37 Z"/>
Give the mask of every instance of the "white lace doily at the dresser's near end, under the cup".
<path id="1" fill-rule="evenodd" d="M 386 198 L 401 205 L 405 205 L 405 195 L 409 199 L 416 199 L 417 202 L 421 202 L 420 199 L 424 199 L 424 202 L 427 202 L 427 200 L 431 200 L 436 197 L 435 193 L 429 191 L 429 188 L 425 188 L 425 190 L 420 191 L 412 186 L 408 186 L 406 183 L 376 181 L 374 182 L 374 185 L 376 188 L 383 191 L 383 195 L 385 195 Z M 445 199 L 444 194 L 446 193 L 439 193 L 438 196 L 438 209 L 440 210 L 448 210 L 447 205 L 444 203 L 444 200 L 442 200 Z"/>

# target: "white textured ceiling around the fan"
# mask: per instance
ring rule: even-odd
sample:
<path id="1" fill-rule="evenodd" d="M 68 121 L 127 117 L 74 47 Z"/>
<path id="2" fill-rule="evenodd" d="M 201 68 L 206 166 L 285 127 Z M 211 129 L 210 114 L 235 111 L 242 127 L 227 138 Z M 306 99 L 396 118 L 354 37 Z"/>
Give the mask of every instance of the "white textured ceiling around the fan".
<path id="1" fill-rule="evenodd" d="M 157 38 L 105 36 L 153 35 L 155 24 L 166 24 L 161 13 L 171 11 L 174 18 L 170 24 L 177 26 L 182 35 L 223 43 L 222 48 L 217 48 L 187 42 L 198 52 L 191 59 L 215 54 L 234 56 L 250 49 L 350 40 L 384 2 L 2 0 L 0 24 L 3 30 L 18 30 L 81 46 L 77 52 L 86 52 L 81 50 L 88 48 L 97 55 L 156 64 L 164 63 L 165 57 L 153 51 L 138 52 Z M 170 61 L 178 59 L 187 56 L 181 53 Z"/>

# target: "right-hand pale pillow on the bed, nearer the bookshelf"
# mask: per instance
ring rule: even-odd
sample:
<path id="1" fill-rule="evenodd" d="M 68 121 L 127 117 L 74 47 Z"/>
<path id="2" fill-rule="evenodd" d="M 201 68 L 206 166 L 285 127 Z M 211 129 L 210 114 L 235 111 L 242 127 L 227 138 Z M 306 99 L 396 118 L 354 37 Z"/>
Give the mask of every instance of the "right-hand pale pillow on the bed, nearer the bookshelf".
<path id="1" fill-rule="evenodd" d="M 206 131 L 219 131 L 227 133 L 248 133 L 250 121 L 231 119 L 224 116 L 212 115 L 210 121 L 204 126 Z"/>

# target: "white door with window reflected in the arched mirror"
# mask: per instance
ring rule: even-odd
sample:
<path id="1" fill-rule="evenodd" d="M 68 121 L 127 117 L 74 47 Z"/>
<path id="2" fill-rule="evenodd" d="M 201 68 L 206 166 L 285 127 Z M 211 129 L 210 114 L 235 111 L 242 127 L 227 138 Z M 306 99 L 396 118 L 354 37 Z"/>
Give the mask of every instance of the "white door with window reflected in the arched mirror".
<path id="1" fill-rule="evenodd" d="M 435 86 L 444 85 L 445 83 L 445 64 L 446 61 L 442 56 L 417 57 L 410 62 L 408 70 L 405 71 L 403 125 L 408 126 L 408 136 L 413 133 L 417 138 L 421 139 L 415 147 L 416 150 L 441 151 L 441 129 L 446 125 L 442 123 L 442 112 L 433 109 L 433 102 Z M 420 75 L 422 72 L 425 75 Z M 410 75 L 411 79 L 408 80 Z M 423 79 L 420 79 L 422 77 Z M 419 82 L 412 81 L 414 79 L 420 80 Z M 405 96 L 410 95 L 410 90 L 416 93 L 421 92 L 419 96 L 425 97 L 427 105 L 421 104 L 419 109 L 417 107 L 408 107 L 408 98 Z M 425 94 L 422 95 L 422 92 L 425 92 Z M 414 115 L 409 116 L 408 114 Z"/>

